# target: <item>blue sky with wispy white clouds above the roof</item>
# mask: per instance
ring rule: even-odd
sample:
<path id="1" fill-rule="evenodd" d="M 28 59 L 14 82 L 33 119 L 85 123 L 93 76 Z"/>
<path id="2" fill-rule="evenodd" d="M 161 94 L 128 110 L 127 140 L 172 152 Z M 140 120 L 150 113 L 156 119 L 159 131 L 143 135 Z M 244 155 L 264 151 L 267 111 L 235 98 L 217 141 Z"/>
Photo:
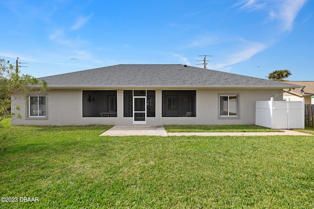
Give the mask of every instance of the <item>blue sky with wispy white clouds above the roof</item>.
<path id="1" fill-rule="evenodd" d="M 314 80 L 314 0 L 0 0 L 0 58 L 42 77 L 183 64 Z M 259 66 L 259 67 L 258 67 Z"/>

